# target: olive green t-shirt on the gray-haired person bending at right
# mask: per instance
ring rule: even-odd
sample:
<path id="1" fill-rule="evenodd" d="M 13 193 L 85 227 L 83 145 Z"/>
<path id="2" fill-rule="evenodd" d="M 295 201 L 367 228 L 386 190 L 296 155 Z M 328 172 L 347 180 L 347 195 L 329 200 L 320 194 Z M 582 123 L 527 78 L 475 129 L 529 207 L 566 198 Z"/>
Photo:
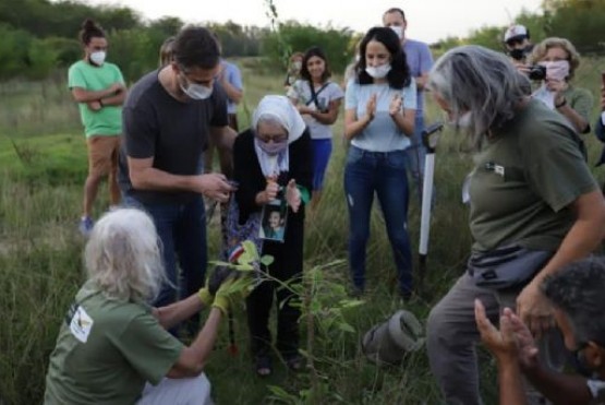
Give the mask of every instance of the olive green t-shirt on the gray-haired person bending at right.
<path id="1" fill-rule="evenodd" d="M 597 189 L 573 129 L 539 100 L 495 132 L 474 162 L 474 251 L 515 242 L 555 251 L 576 219 L 569 205 Z"/>

